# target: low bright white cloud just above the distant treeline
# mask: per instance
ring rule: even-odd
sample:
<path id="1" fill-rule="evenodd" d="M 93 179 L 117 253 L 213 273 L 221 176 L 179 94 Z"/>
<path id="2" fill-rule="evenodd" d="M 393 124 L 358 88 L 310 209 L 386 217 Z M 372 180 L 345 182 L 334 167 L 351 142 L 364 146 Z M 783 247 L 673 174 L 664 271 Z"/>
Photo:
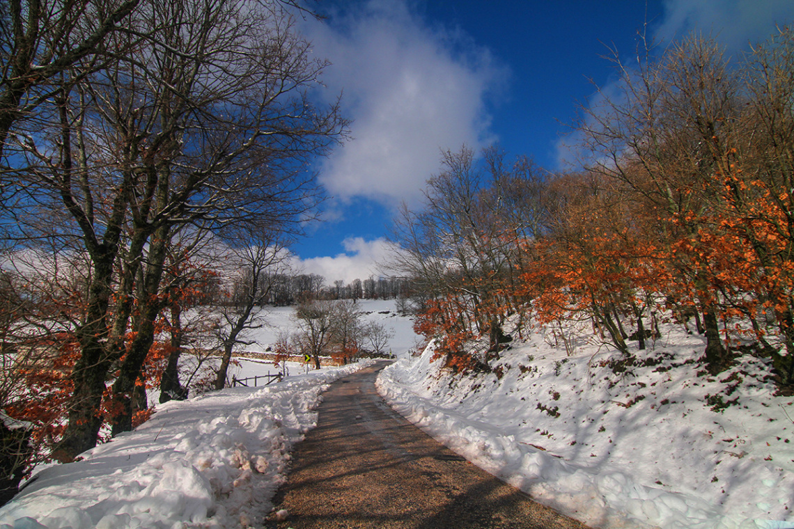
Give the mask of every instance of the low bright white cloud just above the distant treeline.
<path id="1" fill-rule="evenodd" d="M 391 243 L 382 238 L 364 240 L 361 237 L 350 237 L 342 245 L 345 253 L 334 257 L 300 259 L 295 263 L 295 269 L 303 270 L 304 274 L 322 275 L 328 285 L 338 279 L 347 284 L 353 279 L 366 279 L 371 275 L 378 277 L 377 264 L 387 262 L 392 251 Z"/>

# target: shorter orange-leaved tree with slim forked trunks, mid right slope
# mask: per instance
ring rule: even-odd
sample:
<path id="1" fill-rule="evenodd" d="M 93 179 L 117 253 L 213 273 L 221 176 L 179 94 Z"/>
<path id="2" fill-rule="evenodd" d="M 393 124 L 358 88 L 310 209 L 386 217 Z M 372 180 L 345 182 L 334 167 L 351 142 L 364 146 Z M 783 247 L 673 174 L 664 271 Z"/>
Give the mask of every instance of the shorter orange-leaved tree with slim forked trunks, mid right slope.
<path id="1" fill-rule="evenodd" d="M 624 320 L 630 320 L 644 348 L 643 319 L 665 274 L 635 204 L 595 173 L 560 176 L 549 189 L 553 222 L 542 240 L 526 242 L 534 259 L 522 269 L 538 322 L 592 320 L 607 343 L 629 355 Z"/>

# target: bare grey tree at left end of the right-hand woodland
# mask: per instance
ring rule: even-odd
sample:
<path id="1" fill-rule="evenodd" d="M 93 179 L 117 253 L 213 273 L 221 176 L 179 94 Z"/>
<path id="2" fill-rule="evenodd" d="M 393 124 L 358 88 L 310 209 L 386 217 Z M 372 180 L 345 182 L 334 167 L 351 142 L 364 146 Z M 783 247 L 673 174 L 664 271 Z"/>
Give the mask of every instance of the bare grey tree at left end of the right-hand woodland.
<path id="1" fill-rule="evenodd" d="M 484 159 L 483 167 L 465 147 L 442 154 L 422 209 L 403 207 L 395 222 L 391 269 L 412 280 L 414 295 L 454 303 L 446 326 L 487 335 L 489 356 L 498 357 L 507 311 L 521 307 L 501 286 L 515 282 L 520 243 L 540 232 L 545 210 L 534 199 L 542 182 L 530 162 L 508 168 L 495 148 Z"/>

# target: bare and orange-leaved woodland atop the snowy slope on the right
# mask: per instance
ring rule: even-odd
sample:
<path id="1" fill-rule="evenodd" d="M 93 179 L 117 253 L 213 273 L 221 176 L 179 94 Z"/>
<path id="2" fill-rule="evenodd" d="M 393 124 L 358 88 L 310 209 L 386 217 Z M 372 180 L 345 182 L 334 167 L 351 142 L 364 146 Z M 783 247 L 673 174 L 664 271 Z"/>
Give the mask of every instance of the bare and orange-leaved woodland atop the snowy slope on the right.
<path id="1" fill-rule="evenodd" d="M 731 60 L 701 36 L 613 60 L 619 83 L 576 126 L 580 170 L 443 154 L 392 236 L 416 330 L 466 371 L 533 325 L 585 324 L 631 362 L 675 320 L 704 336 L 703 373 L 750 352 L 790 391 L 794 33 Z"/>

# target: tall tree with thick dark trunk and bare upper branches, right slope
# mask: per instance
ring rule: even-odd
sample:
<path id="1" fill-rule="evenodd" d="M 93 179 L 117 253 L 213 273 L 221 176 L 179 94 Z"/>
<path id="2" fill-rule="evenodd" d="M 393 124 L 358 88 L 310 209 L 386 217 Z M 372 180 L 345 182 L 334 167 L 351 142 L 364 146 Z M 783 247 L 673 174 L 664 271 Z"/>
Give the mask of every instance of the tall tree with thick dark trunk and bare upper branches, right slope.
<path id="1" fill-rule="evenodd" d="M 672 250 L 676 241 L 697 239 L 698 220 L 713 207 L 710 197 L 719 184 L 713 148 L 741 106 L 738 78 L 712 40 L 690 37 L 660 59 L 646 52 L 638 69 L 615 56 L 620 96 L 606 98 L 581 130 L 593 151 L 592 171 L 617 182 L 655 214 L 656 219 L 646 218 L 656 224 L 661 249 L 669 250 L 669 265 L 692 283 L 692 303 L 703 316 L 707 339 L 704 358 L 715 373 L 731 358 L 719 334 L 711 276 L 689 261 L 695 254 Z"/>

